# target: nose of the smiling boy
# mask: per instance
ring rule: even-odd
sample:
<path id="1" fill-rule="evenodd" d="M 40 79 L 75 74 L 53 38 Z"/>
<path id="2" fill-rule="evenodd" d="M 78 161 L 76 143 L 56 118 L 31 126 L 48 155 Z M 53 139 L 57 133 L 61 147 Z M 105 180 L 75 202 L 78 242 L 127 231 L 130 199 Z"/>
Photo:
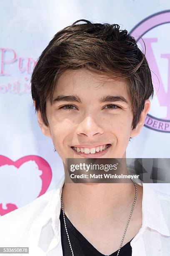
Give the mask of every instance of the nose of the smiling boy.
<path id="1" fill-rule="evenodd" d="M 87 116 L 77 127 L 77 135 L 86 135 L 92 137 L 96 134 L 102 134 L 103 129 L 95 122 L 94 118 Z"/>

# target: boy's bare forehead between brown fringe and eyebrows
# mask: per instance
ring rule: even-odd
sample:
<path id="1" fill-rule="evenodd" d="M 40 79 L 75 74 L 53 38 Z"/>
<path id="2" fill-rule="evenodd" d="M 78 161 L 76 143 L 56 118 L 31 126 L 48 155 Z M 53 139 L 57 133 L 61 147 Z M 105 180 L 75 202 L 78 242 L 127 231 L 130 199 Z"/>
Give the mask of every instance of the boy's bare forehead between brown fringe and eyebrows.
<path id="1" fill-rule="evenodd" d="M 96 74 L 87 69 L 68 69 L 57 80 L 53 98 L 57 95 L 80 95 L 95 100 L 101 95 L 112 94 L 128 97 L 127 82 L 121 77 Z"/>

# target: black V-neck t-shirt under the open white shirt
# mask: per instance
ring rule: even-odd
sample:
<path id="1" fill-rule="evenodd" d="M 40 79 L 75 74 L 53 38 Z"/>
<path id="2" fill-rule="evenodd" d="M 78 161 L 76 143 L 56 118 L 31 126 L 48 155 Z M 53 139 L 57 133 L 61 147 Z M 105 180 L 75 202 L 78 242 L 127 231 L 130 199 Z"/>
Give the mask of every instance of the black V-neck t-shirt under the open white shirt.
<path id="1" fill-rule="evenodd" d="M 97 251 L 97 249 L 92 246 L 92 244 L 87 241 L 87 239 L 82 236 L 82 234 L 72 225 L 70 220 L 65 215 L 65 222 L 67 227 L 67 232 L 70 238 L 70 243 L 72 246 L 72 251 L 75 256 L 104 256 L 104 254 Z M 62 252 L 63 256 L 72 256 L 72 252 L 70 249 L 70 245 L 68 242 L 63 213 L 62 209 L 60 211 L 60 225 L 61 225 L 61 243 L 62 243 Z M 132 241 L 132 240 L 131 240 Z M 110 256 L 117 256 L 117 251 L 110 254 Z M 132 247 L 130 246 L 130 242 L 126 243 L 121 247 L 119 256 L 132 256 Z"/>

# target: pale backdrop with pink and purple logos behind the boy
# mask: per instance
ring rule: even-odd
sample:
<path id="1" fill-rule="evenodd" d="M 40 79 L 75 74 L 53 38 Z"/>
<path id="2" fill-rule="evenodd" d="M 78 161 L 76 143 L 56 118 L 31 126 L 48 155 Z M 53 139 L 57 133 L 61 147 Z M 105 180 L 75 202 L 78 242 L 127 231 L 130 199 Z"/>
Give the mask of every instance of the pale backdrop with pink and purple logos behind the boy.
<path id="1" fill-rule="evenodd" d="M 143 37 L 156 93 L 145 127 L 129 143 L 127 157 L 170 158 L 169 9 L 169 0 L 1 1 L 0 215 L 53 189 L 64 173 L 52 140 L 37 124 L 30 76 L 54 34 L 78 19 L 118 23 L 136 39 Z M 170 184 L 153 186 L 170 194 Z"/>

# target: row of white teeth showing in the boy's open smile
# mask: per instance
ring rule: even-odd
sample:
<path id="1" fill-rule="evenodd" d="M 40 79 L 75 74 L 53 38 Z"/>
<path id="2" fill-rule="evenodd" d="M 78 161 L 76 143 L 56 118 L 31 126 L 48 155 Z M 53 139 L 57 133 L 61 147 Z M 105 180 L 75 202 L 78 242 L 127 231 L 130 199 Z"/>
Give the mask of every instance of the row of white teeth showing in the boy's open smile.
<path id="1" fill-rule="evenodd" d="M 83 153 L 83 154 L 97 154 L 98 152 L 102 152 L 105 151 L 107 148 L 109 148 L 111 146 L 111 144 L 105 144 L 105 145 L 101 145 L 101 146 L 97 146 L 97 147 L 93 147 L 93 148 L 83 148 L 83 147 L 73 147 L 71 146 L 71 148 L 76 152 L 76 153 Z"/>

